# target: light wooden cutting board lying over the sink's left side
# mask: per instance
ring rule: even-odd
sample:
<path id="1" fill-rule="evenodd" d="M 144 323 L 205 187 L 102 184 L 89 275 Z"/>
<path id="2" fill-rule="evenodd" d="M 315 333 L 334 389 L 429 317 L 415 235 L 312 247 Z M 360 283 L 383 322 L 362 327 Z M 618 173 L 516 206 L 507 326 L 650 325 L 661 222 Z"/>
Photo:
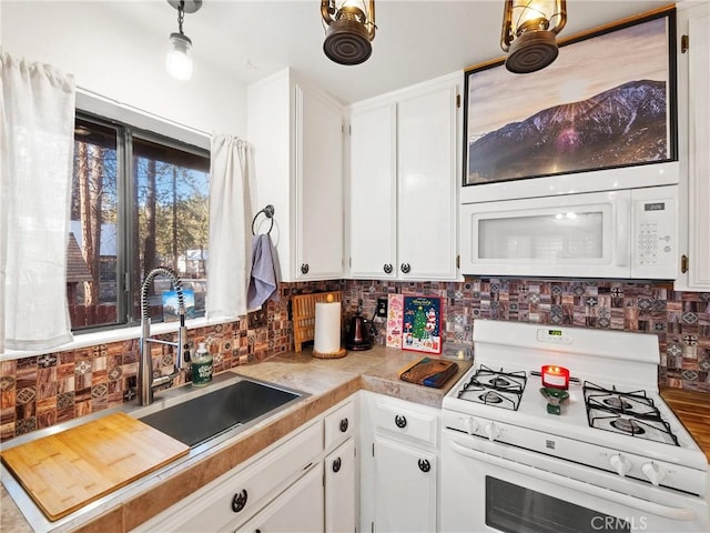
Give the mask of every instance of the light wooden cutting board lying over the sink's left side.
<path id="1" fill-rule="evenodd" d="M 3 450 L 0 456 L 54 521 L 189 451 L 172 436 L 116 413 Z"/>

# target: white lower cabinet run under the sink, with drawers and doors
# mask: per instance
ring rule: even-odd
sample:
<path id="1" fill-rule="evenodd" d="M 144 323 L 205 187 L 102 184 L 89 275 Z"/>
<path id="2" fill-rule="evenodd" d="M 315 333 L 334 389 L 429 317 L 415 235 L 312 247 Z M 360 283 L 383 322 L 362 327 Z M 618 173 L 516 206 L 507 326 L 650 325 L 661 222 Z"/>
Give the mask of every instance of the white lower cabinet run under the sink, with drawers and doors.
<path id="1" fill-rule="evenodd" d="M 357 428 L 344 400 L 134 531 L 354 532 Z"/>

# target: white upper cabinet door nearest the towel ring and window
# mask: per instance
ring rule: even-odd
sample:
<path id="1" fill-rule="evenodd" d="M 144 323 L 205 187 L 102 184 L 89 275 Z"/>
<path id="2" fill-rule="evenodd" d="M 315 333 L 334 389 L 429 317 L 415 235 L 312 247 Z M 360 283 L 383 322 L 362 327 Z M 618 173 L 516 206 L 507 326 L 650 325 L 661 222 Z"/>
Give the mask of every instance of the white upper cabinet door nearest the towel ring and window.
<path id="1" fill-rule="evenodd" d="M 300 280 L 343 275 L 343 115 L 295 88 L 296 263 Z"/>

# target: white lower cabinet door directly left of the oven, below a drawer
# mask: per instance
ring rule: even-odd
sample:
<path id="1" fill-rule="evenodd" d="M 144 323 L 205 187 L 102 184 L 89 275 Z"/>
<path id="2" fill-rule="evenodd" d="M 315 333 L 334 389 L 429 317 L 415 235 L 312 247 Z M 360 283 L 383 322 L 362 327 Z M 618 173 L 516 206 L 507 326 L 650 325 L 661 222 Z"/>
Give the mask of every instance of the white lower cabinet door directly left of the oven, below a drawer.
<path id="1" fill-rule="evenodd" d="M 374 453 L 374 530 L 436 531 L 436 454 L 378 435 Z"/>

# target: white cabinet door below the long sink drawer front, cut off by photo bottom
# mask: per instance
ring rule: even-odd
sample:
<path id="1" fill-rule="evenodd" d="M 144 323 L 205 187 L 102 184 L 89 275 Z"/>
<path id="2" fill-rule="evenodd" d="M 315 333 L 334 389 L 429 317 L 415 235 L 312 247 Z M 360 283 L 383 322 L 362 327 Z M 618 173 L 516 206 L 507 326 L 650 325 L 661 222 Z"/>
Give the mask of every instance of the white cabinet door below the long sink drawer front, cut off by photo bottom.
<path id="1" fill-rule="evenodd" d="M 317 533 L 323 531 L 323 465 L 311 471 L 236 530 L 253 533 Z"/>

